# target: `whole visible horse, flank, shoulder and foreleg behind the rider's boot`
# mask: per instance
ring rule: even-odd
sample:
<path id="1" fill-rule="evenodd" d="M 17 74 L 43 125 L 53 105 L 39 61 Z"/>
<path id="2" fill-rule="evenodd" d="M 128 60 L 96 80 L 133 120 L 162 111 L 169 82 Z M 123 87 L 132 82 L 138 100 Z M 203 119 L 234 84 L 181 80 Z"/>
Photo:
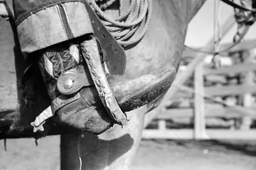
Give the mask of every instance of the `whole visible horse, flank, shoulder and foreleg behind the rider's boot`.
<path id="1" fill-rule="evenodd" d="M 125 49 L 127 63 L 124 75 L 134 79 L 157 72 L 163 67 L 174 68 L 177 72 L 184 50 L 188 24 L 205 1 L 152 1 L 151 22 L 148 24 L 145 36 L 136 45 Z M 127 3 L 128 1 L 124 6 Z M 118 3 L 107 8 L 106 15 L 118 17 Z M 10 25 L 4 23 L 1 32 L 6 34 L 0 35 L 1 60 L 3 60 L 0 68 L 4 68 L 4 74 L 1 76 L 1 82 L 4 82 L 1 93 L 7 100 L 1 102 L 0 137 L 1 139 L 17 137 L 37 139 L 42 137 L 42 134 L 33 134 L 29 123 L 35 118 L 35 112 L 40 112 L 44 110 L 45 105 L 49 105 L 49 97 L 42 86 L 44 84 L 42 77 L 36 72 L 31 75 L 33 81 L 30 79 L 26 82 L 26 86 L 22 86 L 22 72 L 26 70 L 28 63 L 18 57 L 20 56 L 19 44 L 12 22 L 13 20 L 10 19 L 12 31 Z M 12 32 L 13 40 L 10 40 Z M 6 82 L 5 79 L 9 81 Z M 6 91 L 8 91 L 7 94 Z M 140 146 L 145 116 L 152 109 L 152 105 L 159 100 L 161 98 L 156 98 L 137 109 L 125 112 L 129 120 L 126 125 L 115 124 L 101 134 L 54 126 L 48 132 L 49 135 L 61 134 L 61 169 L 129 169 Z M 26 105 L 26 107 L 20 107 L 20 105 Z M 19 119 L 18 123 L 15 121 L 17 119 Z"/>

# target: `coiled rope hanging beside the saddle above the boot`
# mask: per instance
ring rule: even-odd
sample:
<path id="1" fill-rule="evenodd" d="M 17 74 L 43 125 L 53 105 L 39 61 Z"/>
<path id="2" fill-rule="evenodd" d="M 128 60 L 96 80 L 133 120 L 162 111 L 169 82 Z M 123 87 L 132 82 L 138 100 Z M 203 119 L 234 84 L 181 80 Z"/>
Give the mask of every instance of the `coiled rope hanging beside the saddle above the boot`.
<path id="1" fill-rule="evenodd" d="M 127 0 L 118 0 L 119 16 L 117 19 L 113 19 L 112 16 L 108 16 L 104 12 L 104 10 L 109 8 L 109 6 L 117 0 L 109 0 L 103 4 L 100 4 L 102 0 L 87 1 L 97 13 L 101 22 L 120 45 L 127 46 L 137 43 L 147 32 L 152 15 L 152 0 L 129 0 L 127 12 L 124 10 L 124 1 Z M 142 24 L 144 24 L 144 26 Z M 143 30 L 140 31 L 138 35 L 135 35 L 140 26 L 143 26 Z"/>

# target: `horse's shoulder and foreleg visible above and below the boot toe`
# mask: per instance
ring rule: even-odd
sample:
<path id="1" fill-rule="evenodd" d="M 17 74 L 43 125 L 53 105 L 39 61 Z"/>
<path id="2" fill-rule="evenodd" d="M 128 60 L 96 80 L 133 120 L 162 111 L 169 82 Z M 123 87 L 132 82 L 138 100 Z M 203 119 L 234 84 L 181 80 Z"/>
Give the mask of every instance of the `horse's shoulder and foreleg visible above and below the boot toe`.
<path id="1" fill-rule="evenodd" d="M 179 68 L 189 21 L 204 1 L 153 1 L 152 19 L 143 40 L 125 49 L 125 76 L 135 78 L 158 72 L 166 66 Z M 117 10 L 107 15 L 116 17 Z M 168 63 L 166 65 L 166 63 Z M 61 169 L 129 169 L 140 145 L 148 105 L 126 112 L 129 122 L 100 135 L 83 132 L 61 135 Z M 80 159 L 81 157 L 81 163 Z"/>

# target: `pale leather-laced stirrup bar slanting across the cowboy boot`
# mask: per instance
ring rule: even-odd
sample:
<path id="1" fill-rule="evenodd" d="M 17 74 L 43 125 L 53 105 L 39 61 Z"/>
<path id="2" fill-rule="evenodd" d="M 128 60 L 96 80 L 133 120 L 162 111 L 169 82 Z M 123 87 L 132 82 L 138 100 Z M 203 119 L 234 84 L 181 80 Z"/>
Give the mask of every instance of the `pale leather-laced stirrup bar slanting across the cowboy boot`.
<path id="1" fill-rule="evenodd" d="M 125 125 L 125 123 L 127 123 L 127 116 L 120 109 L 115 96 L 109 87 L 108 80 L 100 62 L 99 48 L 95 38 L 81 43 L 81 51 L 106 111 L 116 123 L 122 126 Z"/>

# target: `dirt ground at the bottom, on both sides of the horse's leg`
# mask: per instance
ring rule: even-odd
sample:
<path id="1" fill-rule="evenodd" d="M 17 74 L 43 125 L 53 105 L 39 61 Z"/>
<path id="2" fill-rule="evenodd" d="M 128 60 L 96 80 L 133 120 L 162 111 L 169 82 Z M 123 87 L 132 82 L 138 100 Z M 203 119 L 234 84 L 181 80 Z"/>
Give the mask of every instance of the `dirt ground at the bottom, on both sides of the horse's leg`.
<path id="1" fill-rule="evenodd" d="M 60 136 L 8 139 L 1 170 L 60 169 Z M 131 170 L 255 170 L 256 141 L 143 140 Z"/>

